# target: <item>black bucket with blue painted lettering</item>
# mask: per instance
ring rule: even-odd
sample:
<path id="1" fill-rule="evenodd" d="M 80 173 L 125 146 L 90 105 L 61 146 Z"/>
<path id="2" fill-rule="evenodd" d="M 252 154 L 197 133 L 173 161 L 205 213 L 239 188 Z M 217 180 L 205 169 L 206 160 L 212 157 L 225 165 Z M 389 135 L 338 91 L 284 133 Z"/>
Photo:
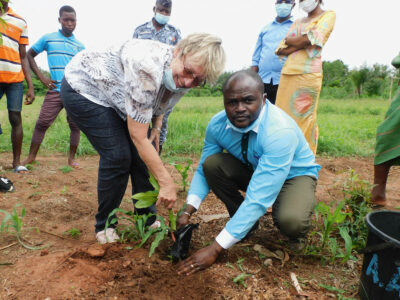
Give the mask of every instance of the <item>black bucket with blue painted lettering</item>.
<path id="1" fill-rule="evenodd" d="M 400 299 L 400 212 L 371 212 L 367 225 L 367 246 L 361 251 L 360 298 Z"/>

